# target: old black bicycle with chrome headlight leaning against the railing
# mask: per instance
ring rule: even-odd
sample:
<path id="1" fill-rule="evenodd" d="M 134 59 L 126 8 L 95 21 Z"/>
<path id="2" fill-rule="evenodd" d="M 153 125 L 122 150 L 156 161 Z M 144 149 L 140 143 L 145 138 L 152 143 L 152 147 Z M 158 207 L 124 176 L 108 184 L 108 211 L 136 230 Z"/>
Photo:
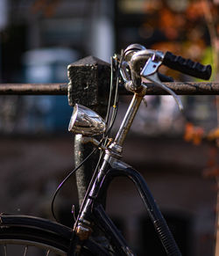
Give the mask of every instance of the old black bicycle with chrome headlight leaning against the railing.
<path id="1" fill-rule="evenodd" d="M 181 255 L 178 245 L 176 245 L 173 235 L 145 183 L 145 179 L 130 165 L 125 164 L 121 160 L 125 137 L 146 94 L 147 86 L 145 79 L 170 93 L 176 100 L 180 110 L 183 108 L 180 98 L 161 82 L 161 80 L 171 80 L 171 78 L 159 74 L 158 69 L 162 64 L 193 77 L 207 80 L 211 76 L 210 65 L 204 66 L 198 62 L 192 62 L 189 59 L 175 56 L 170 52 L 163 53 L 150 50 L 138 44 L 133 44 L 122 51 L 121 55 L 112 57 L 111 85 L 106 120 L 103 121 L 97 113 L 87 107 L 76 104 L 69 123 L 69 131 L 74 132 L 74 134 L 83 135 L 83 143 L 94 143 L 96 146 L 95 150 L 100 149 L 102 152 L 81 204 L 79 214 L 75 220 L 74 227 L 70 229 L 60 223 L 34 216 L 1 214 L 1 255 L 10 255 L 10 252 L 15 252 L 9 245 L 24 245 L 24 248 L 22 248 L 23 255 L 28 255 L 27 253 L 31 252 L 29 248 L 32 248 L 32 246 L 45 253 L 40 255 L 53 255 L 52 253 L 61 256 L 135 255 L 104 210 L 104 201 L 109 184 L 119 176 L 131 179 L 137 187 L 138 193 L 145 204 L 145 208 L 166 251 L 166 255 Z M 117 131 L 117 135 L 112 140 L 109 139 L 109 133 L 117 115 L 118 90 L 120 86 L 134 95 L 124 120 Z M 112 107 L 110 107 L 111 102 Z M 102 135 L 102 138 L 100 141 L 97 141 L 94 135 Z M 95 150 L 84 159 L 81 165 L 88 160 Z M 67 175 L 53 195 L 52 211 L 55 218 L 53 204 L 56 195 L 67 179 L 81 165 L 77 166 L 73 172 Z M 103 238 L 106 238 L 102 243 L 98 243 L 95 238 L 92 238 L 94 228 L 101 230 Z M 18 252 L 17 249 L 15 250 Z"/>

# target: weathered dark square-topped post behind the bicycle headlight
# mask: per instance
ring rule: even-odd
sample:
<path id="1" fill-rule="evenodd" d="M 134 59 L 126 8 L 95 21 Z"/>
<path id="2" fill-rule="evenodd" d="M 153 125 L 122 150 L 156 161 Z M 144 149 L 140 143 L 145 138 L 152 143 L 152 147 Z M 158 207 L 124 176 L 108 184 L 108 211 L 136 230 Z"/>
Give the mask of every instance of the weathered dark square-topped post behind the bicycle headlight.
<path id="1" fill-rule="evenodd" d="M 105 117 L 108 104 L 110 66 L 98 58 L 88 56 L 67 67 L 68 71 L 68 103 L 74 106 L 75 103 L 87 106 Z M 75 166 L 80 165 L 85 157 L 94 150 L 93 145 L 82 144 L 81 135 L 74 138 L 74 162 Z M 89 181 L 95 169 L 99 152 L 96 151 L 85 165 L 76 172 L 76 182 L 79 195 L 79 204 L 88 188 Z"/>

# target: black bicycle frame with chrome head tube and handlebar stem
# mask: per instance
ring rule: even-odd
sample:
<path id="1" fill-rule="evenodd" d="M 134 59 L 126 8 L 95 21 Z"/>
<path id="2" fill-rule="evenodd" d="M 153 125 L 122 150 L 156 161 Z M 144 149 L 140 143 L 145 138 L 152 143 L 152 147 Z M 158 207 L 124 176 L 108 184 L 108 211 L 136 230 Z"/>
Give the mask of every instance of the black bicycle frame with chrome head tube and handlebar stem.
<path id="1" fill-rule="evenodd" d="M 134 255 L 102 206 L 102 199 L 107 192 L 111 180 L 119 176 L 124 176 L 131 179 L 137 187 L 138 193 L 145 204 L 145 208 L 148 211 L 155 230 L 157 230 L 159 239 L 167 255 L 181 255 L 166 221 L 153 200 L 145 179 L 136 170 L 132 169 L 131 166 L 124 164 L 119 159 L 122 154 L 124 139 L 131 128 L 132 121 L 138 112 L 138 107 L 145 96 L 145 91 L 146 87 L 144 85 L 138 88 L 138 91 L 135 91 L 114 142 L 105 149 L 102 167 L 82 207 L 81 215 L 79 216 L 78 223 L 74 226 L 74 231 L 77 238 L 81 241 L 86 240 L 92 232 L 92 225 L 95 223 L 103 230 L 105 236 L 110 239 L 118 253 L 117 255 Z"/>

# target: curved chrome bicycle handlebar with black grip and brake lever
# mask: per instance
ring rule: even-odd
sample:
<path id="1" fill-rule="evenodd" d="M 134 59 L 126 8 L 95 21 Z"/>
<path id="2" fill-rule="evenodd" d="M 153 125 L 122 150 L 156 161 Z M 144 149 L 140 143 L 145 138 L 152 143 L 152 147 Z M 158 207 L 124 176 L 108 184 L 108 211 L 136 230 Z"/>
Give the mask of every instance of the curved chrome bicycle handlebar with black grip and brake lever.
<path id="1" fill-rule="evenodd" d="M 199 62 L 173 55 L 168 51 L 164 53 L 133 44 L 124 50 L 124 60 L 121 62 L 120 72 L 124 78 L 125 88 L 128 91 L 140 91 L 141 93 L 145 78 L 170 93 L 182 110 L 180 98 L 165 84 L 162 84 L 164 77 L 159 75 L 159 67 L 162 64 L 184 74 L 205 80 L 210 78 L 212 71 L 210 65 L 202 65 Z M 166 81 L 169 81 L 169 78 Z"/>

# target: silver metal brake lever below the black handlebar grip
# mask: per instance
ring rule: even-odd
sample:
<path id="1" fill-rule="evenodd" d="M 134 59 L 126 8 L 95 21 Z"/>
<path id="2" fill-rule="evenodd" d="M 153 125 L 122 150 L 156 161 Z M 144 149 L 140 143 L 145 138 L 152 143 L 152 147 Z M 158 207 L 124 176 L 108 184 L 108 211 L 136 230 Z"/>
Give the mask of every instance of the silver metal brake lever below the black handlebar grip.
<path id="1" fill-rule="evenodd" d="M 163 57 L 163 52 L 154 52 L 154 54 L 145 63 L 145 67 L 141 70 L 140 76 L 148 79 L 152 83 L 158 85 L 160 88 L 171 94 L 173 96 L 173 99 L 175 99 L 175 102 L 179 107 L 180 111 L 182 112 L 183 106 L 180 97 L 170 88 L 168 88 L 165 84 L 162 84 L 161 81 L 159 80 L 157 71 L 162 64 Z"/>

